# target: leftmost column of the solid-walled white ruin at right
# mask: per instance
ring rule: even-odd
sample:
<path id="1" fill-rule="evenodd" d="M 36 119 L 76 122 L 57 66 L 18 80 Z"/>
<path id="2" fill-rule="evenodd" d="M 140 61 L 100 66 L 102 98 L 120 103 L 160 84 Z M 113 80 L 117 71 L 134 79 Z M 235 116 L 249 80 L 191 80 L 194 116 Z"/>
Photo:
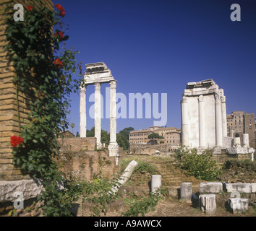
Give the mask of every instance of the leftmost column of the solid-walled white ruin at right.
<path id="1" fill-rule="evenodd" d="M 182 146 L 189 146 L 189 124 L 187 119 L 187 97 L 182 97 Z"/>

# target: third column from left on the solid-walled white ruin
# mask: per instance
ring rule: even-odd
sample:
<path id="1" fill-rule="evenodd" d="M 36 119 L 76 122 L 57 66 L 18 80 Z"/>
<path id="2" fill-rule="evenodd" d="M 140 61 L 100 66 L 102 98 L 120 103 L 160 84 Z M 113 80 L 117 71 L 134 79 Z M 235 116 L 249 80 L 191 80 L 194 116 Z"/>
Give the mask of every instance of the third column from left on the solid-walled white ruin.
<path id="1" fill-rule="evenodd" d="M 216 146 L 222 146 L 222 115 L 221 115 L 221 96 L 218 92 L 215 93 L 215 131 L 216 131 Z"/>

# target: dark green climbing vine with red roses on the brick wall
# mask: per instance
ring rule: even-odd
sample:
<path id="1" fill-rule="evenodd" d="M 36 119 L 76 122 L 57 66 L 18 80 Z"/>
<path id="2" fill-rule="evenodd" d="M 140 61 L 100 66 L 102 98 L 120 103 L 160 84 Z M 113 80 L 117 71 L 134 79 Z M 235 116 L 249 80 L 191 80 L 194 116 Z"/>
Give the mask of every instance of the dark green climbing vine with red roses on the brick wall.
<path id="1" fill-rule="evenodd" d="M 70 188 L 55 161 L 59 153 L 56 138 L 67 128 L 69 96 L 78 90 L 80 80 L 72 78 L 79 71 L 76 51 L 64 47 L 69 39 L 61 22 L 65 10 L 56 4 L 54 11 L 38 0 L 24 9 L 24 21 L 15 21 L 13 5 L 7 7 L 7 47 L 9 60 L 16 71 L 17 115 L 20 137 L 12 136 L 14 165 L 31 178 L 39 178 L 44 190 L 38 199 L 44 201 L 46 216 L 69 216 L 76 198 L 69 190 L 59 190 L 59 183 Z M 77 68 L 78 67 L 78 68 Z M 30 98 L 27 120 L 20 121 L 19 97 Z M 72 191 L 72 190 L 71 190 Z"/>

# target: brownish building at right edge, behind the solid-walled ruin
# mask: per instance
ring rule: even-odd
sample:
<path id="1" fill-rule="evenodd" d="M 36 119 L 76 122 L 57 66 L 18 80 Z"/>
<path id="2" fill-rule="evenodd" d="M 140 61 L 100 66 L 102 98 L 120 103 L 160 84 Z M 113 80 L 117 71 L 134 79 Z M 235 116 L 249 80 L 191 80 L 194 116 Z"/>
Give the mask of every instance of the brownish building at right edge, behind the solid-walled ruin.
<path id="1" fill-rule="evenodd" d="M 234 111 L 227 115 L 228 136 L 240 137 L 243 139 L 243 134 L 249 134 L 249 147 L 255 149 L 255 113 L 244 113 L 244 111 Z"/>

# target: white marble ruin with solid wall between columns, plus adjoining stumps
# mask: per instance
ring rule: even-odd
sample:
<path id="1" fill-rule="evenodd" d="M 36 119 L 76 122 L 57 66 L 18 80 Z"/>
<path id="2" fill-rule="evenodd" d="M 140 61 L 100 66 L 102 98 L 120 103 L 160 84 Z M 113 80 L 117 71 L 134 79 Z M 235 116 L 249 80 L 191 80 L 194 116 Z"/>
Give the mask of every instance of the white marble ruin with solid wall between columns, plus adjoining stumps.
<path id="1" fill-rule="evenodd" d="M 242 146 L 239 137 L 227 135 L 226 97 L 213 79 L 187 83 L 181 107 L 182 147 L 214 148 L 215 154 L 224 151 L 253 158 L 255 150 L 249 147 L 248 134 L 243 134 Z"/>

